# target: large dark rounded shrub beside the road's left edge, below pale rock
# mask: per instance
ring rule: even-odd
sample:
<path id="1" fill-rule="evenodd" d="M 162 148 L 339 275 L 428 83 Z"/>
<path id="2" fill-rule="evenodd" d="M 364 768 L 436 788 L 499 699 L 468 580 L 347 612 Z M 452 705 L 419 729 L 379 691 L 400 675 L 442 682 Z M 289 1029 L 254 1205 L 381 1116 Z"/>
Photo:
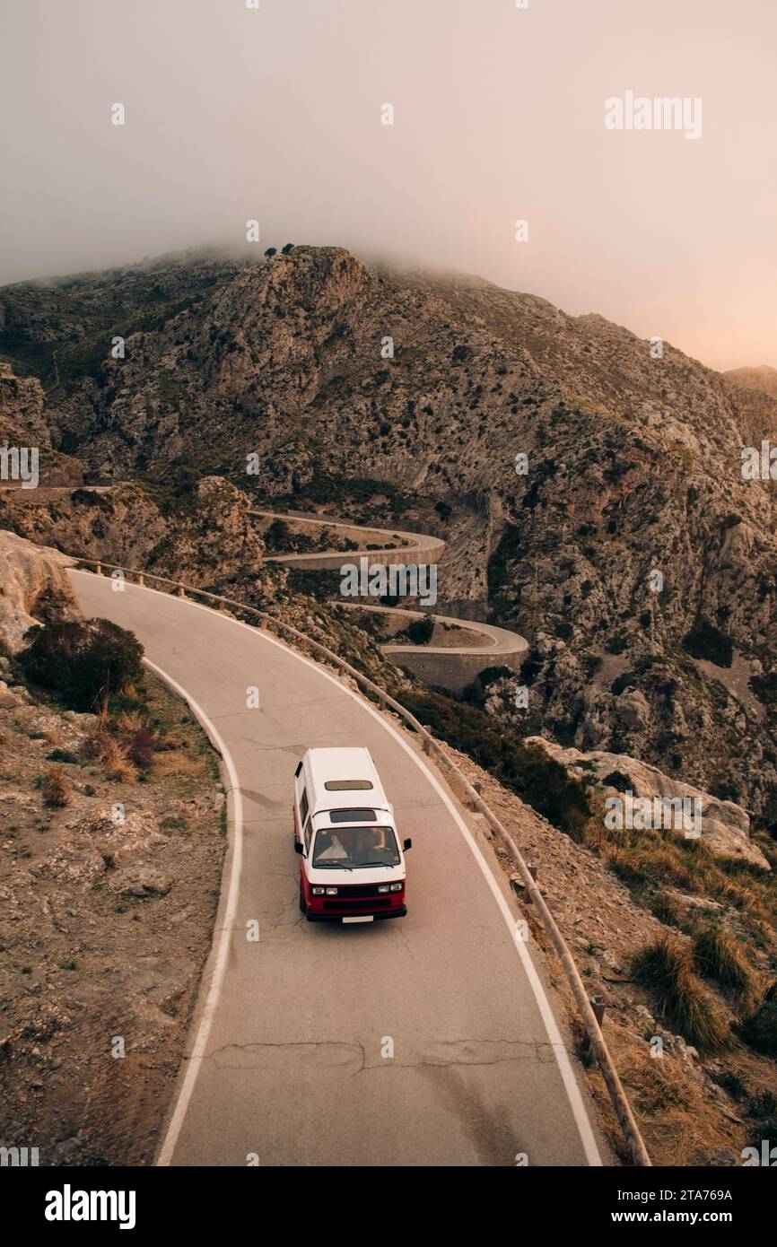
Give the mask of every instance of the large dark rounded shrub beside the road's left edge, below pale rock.
<path id="1" fill-rule="evenodd" d="M 25 676 L 70 710 L 94 711 L 142 681 L 140 641 L 110 620 L 45 624 L 25 640 L 30 643 L 17 656 Z"/>

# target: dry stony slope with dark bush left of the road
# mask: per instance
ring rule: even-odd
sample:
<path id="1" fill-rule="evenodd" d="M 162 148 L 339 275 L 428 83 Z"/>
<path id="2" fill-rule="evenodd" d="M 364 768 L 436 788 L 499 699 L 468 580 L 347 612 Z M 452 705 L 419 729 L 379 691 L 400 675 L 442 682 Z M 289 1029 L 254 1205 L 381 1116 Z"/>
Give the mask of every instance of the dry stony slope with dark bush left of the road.
<path id="1" fill-rule="evenodd" d="M 0 657 L 0 1136 L 41 1165 L 147 1165 L 210 950 L 223 792 L 135 637 L 29 641 Z"/>

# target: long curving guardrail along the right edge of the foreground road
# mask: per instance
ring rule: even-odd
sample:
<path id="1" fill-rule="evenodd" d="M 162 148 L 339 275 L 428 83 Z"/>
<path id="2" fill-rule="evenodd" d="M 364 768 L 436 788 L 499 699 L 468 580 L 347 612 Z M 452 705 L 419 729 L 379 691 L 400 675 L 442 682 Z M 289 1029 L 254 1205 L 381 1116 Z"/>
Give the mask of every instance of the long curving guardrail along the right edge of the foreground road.
<path id="1" fill-rule="evenodd" d="M 435 741 L 432 732 L 424 727 L 423 723 L 419 723 L 415 716 L 412 715 L 409 710 L 405 710 L 400 702 L 395 701 L 394 697 L 387 693 L 384 688 L 380 688 L 380 686 L 369 680 L 368 676 L 362 675 L 362 672 L 357 671 L 355 667 L 352 667 L 350 663 L 344 662 L 344 660 L 337 653 L 328 650 L 326 645 L 306 636 L 304 632 L 299 632 L 299 630 L 293 627 L 291 624 L 286 624 L 283 620 L 277 619 L 274 615 L 269 615 L 267 611 L 259 611 L 257 607 L 246 606 L 244 602 L 238 602 L 232 597 L 223 597 L 220 594 L 210 594 L 205 589 L 195 589 L 192 585 L 185 585 L 180 581 L 170 580 L 167 576 L 157 576 L 153 572 L 138 571 L 133 567 L 122 567 L 120 564 L 82 559 L 74 555 L 70 557 L 72 557 L 76 567 L 80 567 L 81 565 L 94 567 L 97 575 L 102 575 L 102 569 L 106 567 L 112 571 L 120 571 L 125 577 L 131 576 L 133 582 L 138 585 L 145 585 L 146 581 L 155 581 L 160 585 L 171 586 L 178 597 L 205 597 L 208 602 L 216 602 L 217 610 L 229 607 L 231 611 L 239 611 L 241 614 L 254 616 L 261 621 L 262 631 L 267 631 L 272 626 L 273 628 L 278 628 L 281 632 L 294 637 L 296 641 L 298 641 L 302 646 L 307 646 L 313 650 L 314 653 L 323 655 L 333 666 L 337 667 L 340 676 L 349 675 L 352 680 L 355 680 L 359 687 L 367 688 L 370 693 L 373 693 L 382 710 L 390 707 L 397 715 L 410 725 L 413 731 L 417 732 L 422 739 L 424 753 L 434 756 L 438 762 L 442 762 L 443 766 L 445 766 L 454 774 L 456 783 L 466 794 L 470 809 L 483 814 L 491 831 L 496 833 L 504 847 L 509 849 L 518 873 L 518 879 L 513 878 L 511 880 L 513 887 L 518 890 L 516 884 L 519 884 L 520 880 L 520 890 L 523 892 L 524 900 L 534 907 L 534 910 L 540 918 L 545 933 L 550 939 L 559 960 L 561 961 L 561 966 L 571 988 L 575 1003 L 580 1009 L 590 1051 L 596 1057 L 596 1064 L 599 1065 L 601 1076 L 605 1080 L 605 1085 L 622 1130 L 629 1153 L 636 1166 L 650 1166 L 652 1163 L 650 1155 L 601 1033 L 595 1005 L 589 1000 L 587 991 L 582 979 L 580 978 L 577 966 L 575 965 L 575 959 L 566 946 L 566 941 L 559 930 L 550 909 L 545 904 L 545 899 L 538 887 L 536 879 L 534 878 L 536 872 L 533 873 L 533 870 L 526 865 L 520 849 L 508 829 L 496 818 L 493 811 L 489 809 L 480 793 L 473 787 L 466 776 L 458 768 L 455 762 L 448 757 L 439 742 Z"/>

